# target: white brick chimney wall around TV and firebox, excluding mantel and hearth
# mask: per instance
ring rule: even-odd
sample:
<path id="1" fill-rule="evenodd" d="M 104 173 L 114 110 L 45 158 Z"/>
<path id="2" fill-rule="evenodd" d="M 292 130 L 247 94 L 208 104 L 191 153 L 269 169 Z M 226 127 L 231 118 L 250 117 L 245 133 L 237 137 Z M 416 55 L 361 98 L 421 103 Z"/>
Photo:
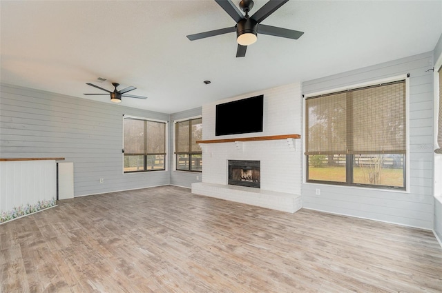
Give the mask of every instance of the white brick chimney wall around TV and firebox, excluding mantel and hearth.
<path id="1" fill-rule="evenodd" d="M 263 132 L 215 137 L 215 106 L 264 94 Z M 202 107 L 202 135 L 204 140 L 237 137 L 262 137 L 278 134 L 300 134 L 301 110 L 300 83 L 251 92 L 224 99 Z M 234 119 L 234 117 L 233 117 Z M 287 139 L 276 141 L 251 141 L 239 143 L 207 143 L 202 145 L 202 182 L 227 185 L 227 161 L 260 161 L 261 189 L 300 194 L 301 143 L 295 140 L 296 150 L 289 148 Z"/>

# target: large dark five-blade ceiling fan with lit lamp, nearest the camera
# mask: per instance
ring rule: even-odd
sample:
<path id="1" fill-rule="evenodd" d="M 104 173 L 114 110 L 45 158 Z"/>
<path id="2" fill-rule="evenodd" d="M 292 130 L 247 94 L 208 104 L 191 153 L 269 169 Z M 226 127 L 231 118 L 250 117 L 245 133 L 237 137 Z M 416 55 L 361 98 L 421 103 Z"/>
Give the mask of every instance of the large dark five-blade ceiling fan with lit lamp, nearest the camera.
<path id="1" fill-rule="evenodd" d="M 289 0 L 269 0 L 269 2 L 265 3 L 264 6 L 250 17 L 249 12 L 251 8 L 253 8 L 253 0 L 242 0 L 240 2 L 240 8 L 245 12 L 245 15 L 236 8 L 231 0 L 215 0 L 215 2 L 218 3 L 234 21 L 236 21 L 236 26 L 231 28 L 221 28 L 219 30 L 210 30 L 208 32 L 200 32 L 198 34 L 189 34 L 187 38 L 191 41 L 195 41 L 236 31 L 236 40 L 238 41 L 236 57 L 244 57 L 246 55 L 247 46 L 256 42 L 258 33 L 288 39 L 298 39 L 304 34 L 304 32 L 261 24 L 261 21 L 269 17 L 270 14 L 278 10 L 278 8 L 284 5 L 287 1 Z"/>

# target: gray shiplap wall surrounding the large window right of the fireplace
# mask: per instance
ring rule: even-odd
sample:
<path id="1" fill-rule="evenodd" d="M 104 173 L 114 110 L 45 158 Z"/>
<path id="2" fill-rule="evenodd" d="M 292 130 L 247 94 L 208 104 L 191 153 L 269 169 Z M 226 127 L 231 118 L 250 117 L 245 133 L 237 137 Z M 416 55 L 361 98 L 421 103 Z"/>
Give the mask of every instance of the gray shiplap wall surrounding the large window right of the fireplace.
<path id="1" fill-rule="evenodd" d="M 427 52 L 302 83 L 303 94 L 309 94 L 410 73 L 410 190 L 303 183 L 304 208 L 433 229 L 433 75 L 425 72 L 432 65 Z"/>

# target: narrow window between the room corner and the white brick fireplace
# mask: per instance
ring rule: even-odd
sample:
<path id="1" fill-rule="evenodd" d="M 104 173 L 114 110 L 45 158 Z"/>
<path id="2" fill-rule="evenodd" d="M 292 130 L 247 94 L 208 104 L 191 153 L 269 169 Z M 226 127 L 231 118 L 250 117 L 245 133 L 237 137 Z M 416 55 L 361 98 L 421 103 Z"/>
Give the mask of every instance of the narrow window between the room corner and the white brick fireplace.
<path id="1" fill-rule="evenodd" d="M 202 139 L 202 119 L 189 119 L 175 123 L 176 169 L 202 171 L 201 147 L 196 141 Z"/>

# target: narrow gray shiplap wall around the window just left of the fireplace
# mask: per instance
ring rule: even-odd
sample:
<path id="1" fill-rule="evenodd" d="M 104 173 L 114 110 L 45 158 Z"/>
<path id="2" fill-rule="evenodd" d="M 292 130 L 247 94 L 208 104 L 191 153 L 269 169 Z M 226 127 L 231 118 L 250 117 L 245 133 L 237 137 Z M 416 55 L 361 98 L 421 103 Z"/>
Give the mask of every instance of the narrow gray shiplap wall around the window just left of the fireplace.
<path id="1" fill-rule="evenodd" d="M 202 115 L 202 108 L 195 108 L 191 110 L 186 110 L 182 112 L 177 112 L 174 114 L 171 114 L 171 123 L 170 124 L 170 131 L 169 131 L 169 154 L 171 154 L 171 160 L 170 160 L 170 170 L 171 170 L 171 185 L 177 185 L 182 186 L 184 188 L 191 188 L 192 183 L 195 182 L 201 182 L 202 180 L 202 174 L 200 172 L 184 172 L 184 171 L 176 171 L 175 169 L 175 163 L 174 163 L 174 154 L 173 154 L 173 141 L 175 139 L 174 133 L 175 128 L 173 126 L 173 121 L 175 120 L 182 120 L 182 119 L 189 119 L 191 117 L 198 117 Z M 204 162 L 203 162 L 204 163 Z M 198 179 L 197 179 L 198 177 Z"/>

